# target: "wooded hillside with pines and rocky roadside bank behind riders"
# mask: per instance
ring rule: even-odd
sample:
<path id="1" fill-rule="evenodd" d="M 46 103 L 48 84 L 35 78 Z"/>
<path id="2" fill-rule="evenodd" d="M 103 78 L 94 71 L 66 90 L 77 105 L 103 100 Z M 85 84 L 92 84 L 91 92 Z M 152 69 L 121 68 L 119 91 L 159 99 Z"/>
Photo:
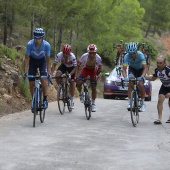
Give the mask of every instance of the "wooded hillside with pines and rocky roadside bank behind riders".
<path id="1" fill-rule="evenodd" d="M 98 46 L 104 63 L 98 96 L 102 97 L 104 73 L 114 67 L 114 43 L 145 42 L 155 58 L 163 54 L 170 61 L 169 0 L 1 0 L 0 1 L 0 113 L 30 108 L 28 83 L 23 84 L 22 61 L 26 43 L 35 27 L 45 30 L 52 62 L 64 43 L 72 45 L 77 59 L 90 43 Z M 50 101 L 55 100 L 51 88 Z M 77 94 L 76 94 L 77 95 Z"/>

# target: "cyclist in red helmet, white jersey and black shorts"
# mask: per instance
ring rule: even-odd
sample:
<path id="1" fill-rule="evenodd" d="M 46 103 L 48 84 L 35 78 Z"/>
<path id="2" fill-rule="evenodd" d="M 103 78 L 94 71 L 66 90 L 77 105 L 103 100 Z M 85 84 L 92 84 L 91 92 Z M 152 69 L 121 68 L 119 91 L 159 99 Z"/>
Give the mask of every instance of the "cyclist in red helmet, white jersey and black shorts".
<path id="1" fill-rule="evenodd" d="M 75 55 L 71 52 L 71 46 L 69 44 L 65 44 L 62 47 L 62 52 L 59 52 L 54 60 L 54 63 L 51 68 L 51 72 L 53 74 L 55 67 L 58 62 L 61 62 L 61 65 L 58 67 L 56 71 L 56 77 L 61 77 L 66 71 L 69 73 L 70 88 L 71 88 L 71 108 L 74 109 L 74 93 L 75 93 L 75 72 L 77 69 L 77 60 Z M 57 84 L 60 83 L 59 79 L 56 79 Z"/>

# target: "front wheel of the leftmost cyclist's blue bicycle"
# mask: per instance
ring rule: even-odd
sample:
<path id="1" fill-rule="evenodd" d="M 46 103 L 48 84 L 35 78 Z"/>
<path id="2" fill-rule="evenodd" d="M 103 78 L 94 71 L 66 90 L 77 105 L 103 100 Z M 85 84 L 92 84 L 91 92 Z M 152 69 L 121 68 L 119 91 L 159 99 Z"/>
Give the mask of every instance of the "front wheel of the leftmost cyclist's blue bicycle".
<path id="1" fill-rule="evenodd" d="M 33 127 L 35 127 L 35 121 L 36 121 L 36 115 L 38 114 L 38 102 L 37 102 L 37 99 L 38 99 L 38 89 L 35 88 L 34 89 L 34 94 L 33 94 L 33 105 L 32 105 L 32 108 L 33 108 L 33 112 L 34 112 L 34 116 L 33 116 Z"/>

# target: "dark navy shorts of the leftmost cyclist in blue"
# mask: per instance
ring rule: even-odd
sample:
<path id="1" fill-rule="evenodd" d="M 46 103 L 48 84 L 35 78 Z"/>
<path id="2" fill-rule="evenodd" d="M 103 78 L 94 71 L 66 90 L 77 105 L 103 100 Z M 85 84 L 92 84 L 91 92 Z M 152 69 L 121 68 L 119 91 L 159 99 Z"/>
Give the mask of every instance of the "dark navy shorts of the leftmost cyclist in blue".
<path id="1" fill-rule="evenodd" d="M 47 76 L 46 59 L 45 58 L 33 59 L 30 57 L 28 75 L 35 76 L 38 69 L 41 76 Z M 34 80 L 35 80 L 34 78 L 29 78 L 29 81 L 34 81 Z"/>

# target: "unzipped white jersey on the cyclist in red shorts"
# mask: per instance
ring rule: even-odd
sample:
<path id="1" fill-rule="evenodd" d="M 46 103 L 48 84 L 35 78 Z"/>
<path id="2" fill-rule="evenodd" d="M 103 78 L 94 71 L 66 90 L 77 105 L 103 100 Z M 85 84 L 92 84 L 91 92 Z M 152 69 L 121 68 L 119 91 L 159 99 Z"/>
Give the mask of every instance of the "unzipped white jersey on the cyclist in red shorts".
<path id="1" fill-rule="evenodd" d="M 81 65 L 87 66 L 86 64 L 88 61 L 88 55 L 89 53 L 85 53 L 81 56 L 80 60 L 78 61 L 78 66 L 81 66 Z M 95 68 L 99 68 L 102 66 L 101 57 L 98 54 L 96 54 L 95 57 L 96 57 Z"/>

